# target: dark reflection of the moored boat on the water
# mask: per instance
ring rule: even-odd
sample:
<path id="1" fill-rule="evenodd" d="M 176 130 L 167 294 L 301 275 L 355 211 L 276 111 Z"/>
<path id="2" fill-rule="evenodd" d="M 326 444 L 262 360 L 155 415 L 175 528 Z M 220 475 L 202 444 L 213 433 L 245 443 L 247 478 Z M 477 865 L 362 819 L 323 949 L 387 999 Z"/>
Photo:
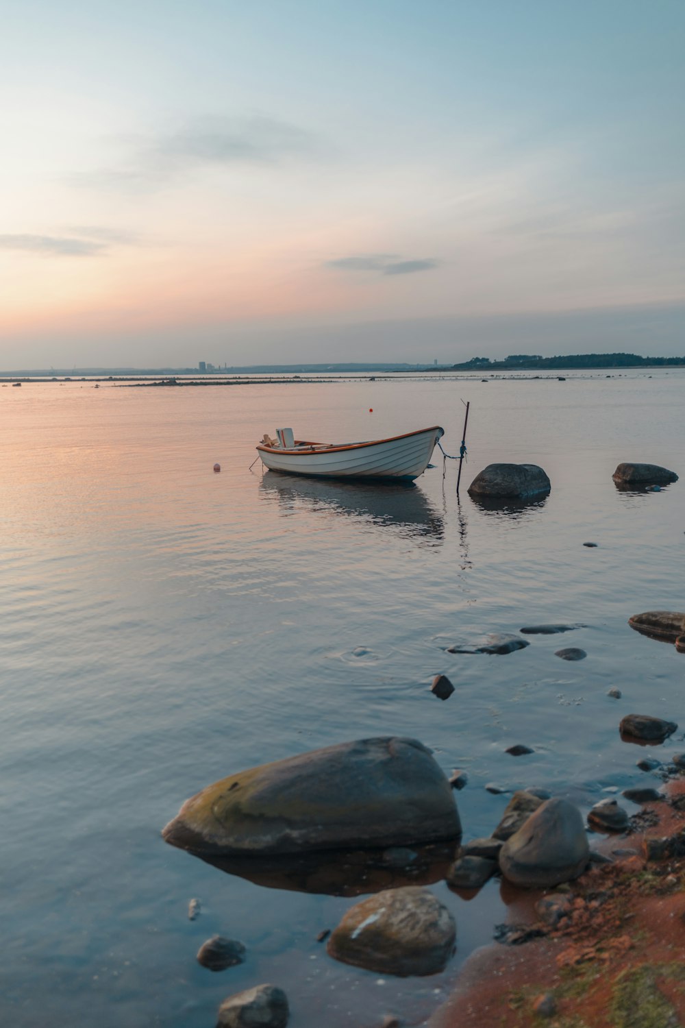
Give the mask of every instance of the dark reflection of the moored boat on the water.
<path id="1" fill-rule="evenodd" d="M 370 524 L 399 528 L 403 535 L 442 543 L 445 523 L 428 498 L 413 482 L 341 482 L 267 471 L 261 489 L 277 498 L 289 513 L 303 508 L 329 510 Z"/>

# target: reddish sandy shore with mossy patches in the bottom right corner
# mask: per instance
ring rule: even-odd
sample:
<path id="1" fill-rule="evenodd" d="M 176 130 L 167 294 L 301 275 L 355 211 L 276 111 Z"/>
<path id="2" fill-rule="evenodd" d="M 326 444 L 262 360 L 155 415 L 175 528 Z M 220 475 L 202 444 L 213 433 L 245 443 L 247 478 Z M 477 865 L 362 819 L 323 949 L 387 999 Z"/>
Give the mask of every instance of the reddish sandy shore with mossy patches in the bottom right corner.
<path id="1" fill-rule="evenodd" d="M 523 926 L 521 938 L 540 934 L 474 953 L 429 1028 L 685 1026 L 685 855 L 644 855 L 645 840 L 685 832 L 685 779 L 668 794 L 675 806 L 646 804 L 638 820 L 647 827 L 598 847 L 637 853 L 562 888 L 568 913 L 556 926 L 536 921 L 534 906 L 558 890 L 521 896 L 509 919 Z M 542 997 L 546 1013 L 537 1012 Z"/>

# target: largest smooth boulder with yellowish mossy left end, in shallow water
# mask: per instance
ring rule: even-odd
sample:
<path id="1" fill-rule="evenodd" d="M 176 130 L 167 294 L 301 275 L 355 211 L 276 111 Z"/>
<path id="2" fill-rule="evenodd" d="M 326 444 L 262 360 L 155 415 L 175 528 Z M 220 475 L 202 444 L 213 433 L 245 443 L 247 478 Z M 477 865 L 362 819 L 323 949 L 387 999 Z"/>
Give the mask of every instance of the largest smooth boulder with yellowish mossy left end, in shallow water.
<path id="1" fill-rule="evenodd" d="M 461 827 L 430 750 L 390 736 L 223 778 L 184 803 L 162 835 L 198 854 L 266 855 L 432 842 Z"/>

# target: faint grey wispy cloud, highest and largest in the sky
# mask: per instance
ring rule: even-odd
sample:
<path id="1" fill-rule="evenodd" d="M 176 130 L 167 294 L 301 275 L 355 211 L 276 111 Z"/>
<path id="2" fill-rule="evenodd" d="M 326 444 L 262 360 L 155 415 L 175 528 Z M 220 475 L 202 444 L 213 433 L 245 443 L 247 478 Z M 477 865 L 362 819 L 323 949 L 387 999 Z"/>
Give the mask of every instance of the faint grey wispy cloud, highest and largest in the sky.
<path id="1" fill-rule="evenodd" d="M 275 167 L 325 150 L 315 134 L 263 115 L 197 118 L 174 132 L 129 138 L 126 144 L 128 154 L 120 164 L 73 175 L 72 184 L 155 189 L 202 168 Z"/>

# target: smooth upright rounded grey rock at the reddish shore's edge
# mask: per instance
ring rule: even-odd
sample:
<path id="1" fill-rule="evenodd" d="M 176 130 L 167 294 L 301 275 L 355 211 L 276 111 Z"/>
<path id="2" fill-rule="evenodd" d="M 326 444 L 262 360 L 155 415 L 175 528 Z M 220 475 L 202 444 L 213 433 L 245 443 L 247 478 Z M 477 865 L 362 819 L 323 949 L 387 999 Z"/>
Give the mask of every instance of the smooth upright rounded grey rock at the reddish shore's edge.
<path id="1" fill-rule="evenodd" d="M 547 800 L 499 853 L 502 874 L 513 885 L 547 888 L 577 878 L 589 855 L 580 811 L 568 800 Z"/>

